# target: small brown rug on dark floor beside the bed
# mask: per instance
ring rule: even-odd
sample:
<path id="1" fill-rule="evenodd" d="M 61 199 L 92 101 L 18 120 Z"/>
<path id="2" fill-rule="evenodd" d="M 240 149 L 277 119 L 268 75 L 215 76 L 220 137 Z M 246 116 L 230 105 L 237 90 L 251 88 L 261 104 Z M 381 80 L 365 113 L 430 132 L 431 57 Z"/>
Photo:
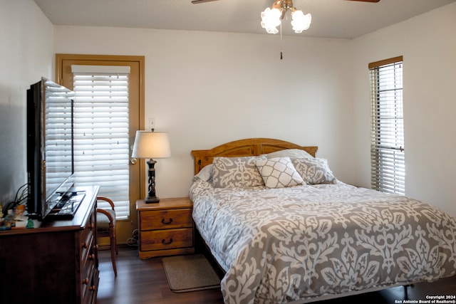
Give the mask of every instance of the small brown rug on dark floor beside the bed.
<path id="1" fill-rule="evenodd" d="M 170 289 L 175 293 L 219 288 L 220 279 L 202 254 L 162 258 Z"/>

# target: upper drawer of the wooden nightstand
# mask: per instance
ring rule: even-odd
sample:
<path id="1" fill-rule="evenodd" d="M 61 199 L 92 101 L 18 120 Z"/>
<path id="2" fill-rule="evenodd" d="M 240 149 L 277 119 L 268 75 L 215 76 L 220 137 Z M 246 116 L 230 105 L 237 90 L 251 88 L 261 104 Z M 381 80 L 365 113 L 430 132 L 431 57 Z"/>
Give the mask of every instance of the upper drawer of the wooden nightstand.
<path id="1" fill-rule="evenodd" d="M 140 231 L 192 227 L 192 209 L 140 212 Z"/>

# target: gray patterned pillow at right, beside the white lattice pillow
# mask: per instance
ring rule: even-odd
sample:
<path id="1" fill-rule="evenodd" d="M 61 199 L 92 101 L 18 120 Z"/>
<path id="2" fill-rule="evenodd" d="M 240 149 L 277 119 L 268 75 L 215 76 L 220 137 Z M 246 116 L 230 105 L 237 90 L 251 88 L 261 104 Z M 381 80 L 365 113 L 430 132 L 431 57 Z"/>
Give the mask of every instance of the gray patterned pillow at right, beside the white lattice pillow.
<path id="1" fill-rule="evenodd" d="M 296 158 L 292 162 L 306 184 L 335 184 L 337 182 L 326 159 Z"/>

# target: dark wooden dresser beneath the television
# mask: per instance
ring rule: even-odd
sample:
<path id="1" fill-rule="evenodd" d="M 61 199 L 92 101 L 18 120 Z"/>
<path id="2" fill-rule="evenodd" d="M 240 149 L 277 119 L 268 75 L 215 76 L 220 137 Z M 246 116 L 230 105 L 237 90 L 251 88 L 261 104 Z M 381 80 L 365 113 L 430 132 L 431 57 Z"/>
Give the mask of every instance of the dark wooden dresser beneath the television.
<path id="1" fill-rule="evenodd" d="M 1 303 L 96 303 L 96 196 L 85 190 L 73 219 L 0 231 Z"/>

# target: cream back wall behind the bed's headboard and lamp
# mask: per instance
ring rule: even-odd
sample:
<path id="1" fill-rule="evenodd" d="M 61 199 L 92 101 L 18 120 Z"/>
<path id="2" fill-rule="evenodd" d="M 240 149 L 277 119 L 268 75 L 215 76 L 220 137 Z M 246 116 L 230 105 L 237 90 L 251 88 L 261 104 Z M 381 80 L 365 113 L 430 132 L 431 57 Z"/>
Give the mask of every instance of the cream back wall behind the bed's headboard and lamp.
<path id="1" fill-rule="evenodd" d="M 55 53 L 145 56 L 145 120 L 170 132 L 157 195 L 187 195 L 192 150 L 271 137 L 318 145 L 353 182 L 350 41 L 234 33 L 56 26 Z M 103 39 L 100 37 L 103 36 Z"/>

